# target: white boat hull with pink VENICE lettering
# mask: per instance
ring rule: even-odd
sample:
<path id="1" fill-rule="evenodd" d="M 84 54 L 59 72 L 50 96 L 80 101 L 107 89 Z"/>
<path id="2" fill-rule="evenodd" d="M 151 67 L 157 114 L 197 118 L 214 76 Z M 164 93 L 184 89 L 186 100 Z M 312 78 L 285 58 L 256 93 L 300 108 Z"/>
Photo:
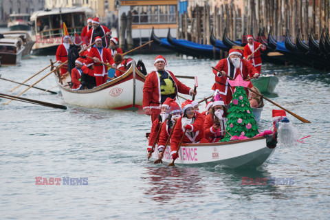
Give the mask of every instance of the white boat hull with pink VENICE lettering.
<path id="1" fill-rule="evenodd" d="M 225 166 L 229 168 L 257 168 L 274 152 L 276 146 L 268 147 L 265 137 L 252 137 L 246 140 L 218 142 L 210 144 L 182 144 L 177 165 Z M 157 151 L 153 159 L 158 159 Z M 170 146 L 166 147 L 163 163 L 173 161 Z"/>

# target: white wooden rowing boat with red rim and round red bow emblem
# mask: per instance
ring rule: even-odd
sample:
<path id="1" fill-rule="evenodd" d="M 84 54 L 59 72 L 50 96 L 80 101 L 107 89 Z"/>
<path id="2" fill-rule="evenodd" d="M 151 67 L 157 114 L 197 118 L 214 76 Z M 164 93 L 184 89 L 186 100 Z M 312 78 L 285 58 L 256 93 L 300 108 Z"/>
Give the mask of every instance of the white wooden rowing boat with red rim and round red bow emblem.
<path id="1" fill-rule="evenodd" d="M 135 63 L 122 76 L 93 89 L 73 91 L 68 85 L 71 77 L 59 80 L 54 74 L 66 103 L 80 107 L 100 109 L 131 109 L 142 107 L 142 89 L 146 76 L 139 72 Z"/>

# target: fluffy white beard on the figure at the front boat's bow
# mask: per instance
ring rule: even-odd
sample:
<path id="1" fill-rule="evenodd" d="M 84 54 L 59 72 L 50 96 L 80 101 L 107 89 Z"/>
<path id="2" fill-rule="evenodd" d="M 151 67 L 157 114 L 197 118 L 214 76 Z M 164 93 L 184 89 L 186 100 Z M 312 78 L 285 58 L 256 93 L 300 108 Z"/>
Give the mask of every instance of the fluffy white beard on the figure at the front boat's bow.
<path id="1" fill-rule="evenodd" d="M 298 130 L 292 125 L 292 122 L 279 122 L 278 140 L 284 146 L 294 146 L 298 140 Z"/>

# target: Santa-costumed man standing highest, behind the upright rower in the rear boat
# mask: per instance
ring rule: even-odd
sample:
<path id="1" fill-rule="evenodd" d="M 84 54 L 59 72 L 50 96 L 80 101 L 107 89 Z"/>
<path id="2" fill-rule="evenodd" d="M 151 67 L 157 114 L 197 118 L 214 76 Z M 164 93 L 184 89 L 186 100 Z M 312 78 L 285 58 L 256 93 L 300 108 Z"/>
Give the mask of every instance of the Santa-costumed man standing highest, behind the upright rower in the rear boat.
<path id="1" fill-rule="evenodd" d="M 101 41 L 102 41 L 102 46 L 104 48 L 107 48 L 108 47 L 108 39 L 107 37 L 104 37 L 102 39 L 102 36 L 110 36 L 111 35 L 111 30 L 109 30 L 107 27 L 103 26 L 103 25 L 100 25 L 100 20 L 98 19 L 98 17 L 94 18 L 93 21 L 93 28 L 91 30 L 89 30 L 89 32 L 87 32 L 87 39 L 88 41 L 84 41 L 84 49 L 85 49 L 85 46 L 87 47 L 87 45 L 91 45 L 96 37 L 100 36 L 101 38 Z"/>

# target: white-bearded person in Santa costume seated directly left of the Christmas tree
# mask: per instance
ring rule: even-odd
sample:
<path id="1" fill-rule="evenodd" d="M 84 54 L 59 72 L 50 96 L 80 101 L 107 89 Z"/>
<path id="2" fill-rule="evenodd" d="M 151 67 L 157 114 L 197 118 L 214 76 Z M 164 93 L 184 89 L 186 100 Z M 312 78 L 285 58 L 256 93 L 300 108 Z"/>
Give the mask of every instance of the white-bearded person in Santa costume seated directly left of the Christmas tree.
<path id="1" fill-rule="evenodd" d="M 214 96 L 211 113 L 206 115 L 204 133 L 210 143 L 219 142 L 225 136 L 225 122 L 227 122 L 228 109 L 219 93 Z"/>

